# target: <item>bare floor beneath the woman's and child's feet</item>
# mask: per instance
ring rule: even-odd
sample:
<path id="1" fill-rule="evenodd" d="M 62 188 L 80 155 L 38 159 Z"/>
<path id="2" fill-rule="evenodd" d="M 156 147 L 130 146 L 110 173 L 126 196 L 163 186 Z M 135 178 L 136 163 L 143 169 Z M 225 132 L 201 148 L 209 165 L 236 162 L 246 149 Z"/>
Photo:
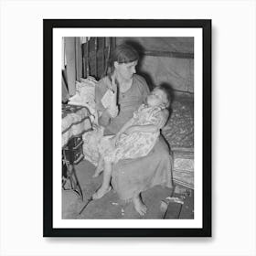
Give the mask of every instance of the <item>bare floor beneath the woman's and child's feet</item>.
<path id="1" fill-rule="evenodd" d="M 83 200 L 71 190 L 62 190 L 62 219 L 194 219 L 194 193 L 186 187 L 175 189 L 156 186 L 142 196 L 147 214 L 141 217 L 132 203 L 122 202 L 111 190 L 101 199 L 88 198 L 101 186 L 102 176 L 92 178 L 95 167 L 84 160 L 75 166 L 83 192 Z M 164 207 L 163 207 L 164 206 Z"/>

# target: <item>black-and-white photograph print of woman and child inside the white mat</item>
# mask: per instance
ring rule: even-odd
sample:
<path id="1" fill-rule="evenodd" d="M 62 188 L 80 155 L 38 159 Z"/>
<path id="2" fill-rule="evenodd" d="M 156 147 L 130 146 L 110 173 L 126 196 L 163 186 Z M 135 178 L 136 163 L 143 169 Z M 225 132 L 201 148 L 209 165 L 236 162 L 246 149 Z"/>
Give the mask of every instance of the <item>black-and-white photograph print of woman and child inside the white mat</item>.
<path id="1" fill-rule="evenodd" d="M 194 38 L 63 41 L 62 218 L 194 219 Z"/>

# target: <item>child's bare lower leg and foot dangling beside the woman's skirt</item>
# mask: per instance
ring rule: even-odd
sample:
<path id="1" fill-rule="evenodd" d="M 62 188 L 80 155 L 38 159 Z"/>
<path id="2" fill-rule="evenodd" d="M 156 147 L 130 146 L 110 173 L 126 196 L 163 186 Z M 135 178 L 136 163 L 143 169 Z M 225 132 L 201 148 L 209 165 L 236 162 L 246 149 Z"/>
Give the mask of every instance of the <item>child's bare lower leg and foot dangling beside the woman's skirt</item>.
<path id="1" fill-rule="evenodd" d="M 92 199 L 99 199 L 107 194 L 112 187 L 110 186 L 112 177 L 112 163 L 104 161 L 103 181 L 101 187 L 92 195 Z"/>

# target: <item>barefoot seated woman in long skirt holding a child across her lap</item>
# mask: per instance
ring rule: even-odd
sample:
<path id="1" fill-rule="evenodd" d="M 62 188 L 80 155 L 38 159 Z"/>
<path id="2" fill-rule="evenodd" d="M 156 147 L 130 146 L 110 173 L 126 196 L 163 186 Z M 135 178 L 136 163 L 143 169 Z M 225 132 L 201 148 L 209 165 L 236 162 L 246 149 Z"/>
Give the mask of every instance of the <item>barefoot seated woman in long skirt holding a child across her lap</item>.
<path id="1" fill-rule="evenodd" d="M 133 117 L 133 112 L 146 103 L 150 91 L 144 78 L 135 74 L 138 59 L 138 53 L 131 46 L 118 46 L 112 54 L 112 74 L 101 79 L 96 86 L 99 124 L 105 127 L 106 135 L 118 133 L 123 124 Z M 115 84 L 117 87 L 113 86 Z M 101 100 L 109 88 L 117 93 L 118 108 L 102 104 Z M 113 188 L 121 199 L 132 199 L 140 215 L 146 213 L 141 192 L 156 185 L 172 187 L 171 158 L 163 139 L 155 144 L 149 155 L 121 160 L 112 167 Z"/>

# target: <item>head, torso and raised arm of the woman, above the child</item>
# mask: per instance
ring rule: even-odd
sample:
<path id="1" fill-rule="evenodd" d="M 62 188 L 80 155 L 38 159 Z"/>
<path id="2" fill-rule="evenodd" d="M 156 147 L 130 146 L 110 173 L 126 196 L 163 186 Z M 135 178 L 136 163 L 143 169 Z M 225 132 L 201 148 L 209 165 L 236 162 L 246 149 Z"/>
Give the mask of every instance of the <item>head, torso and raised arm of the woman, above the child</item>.
<path id="1" fill-rule="evenodd" d="M 128 45 L 118 46 L 112 54 L 112 75 L 99 81 L 96 87 L 96 105 L 100 112 L 99 124 L 105 127 L 105 134 L 117 133 L 123 123 L 133 117 L 133 112 L 145 101 L 149 94 L 148 86 L 141 76 L 136 75 L 139 56 Z M 112 82 L 115 80 L 116 82 Z M 112 84 L 117 83 L 117 104 L 119 112 L 104 108 L 101 103 L 103 95 Z M 118 113 L 118 115 L 117 115 Z"/>

